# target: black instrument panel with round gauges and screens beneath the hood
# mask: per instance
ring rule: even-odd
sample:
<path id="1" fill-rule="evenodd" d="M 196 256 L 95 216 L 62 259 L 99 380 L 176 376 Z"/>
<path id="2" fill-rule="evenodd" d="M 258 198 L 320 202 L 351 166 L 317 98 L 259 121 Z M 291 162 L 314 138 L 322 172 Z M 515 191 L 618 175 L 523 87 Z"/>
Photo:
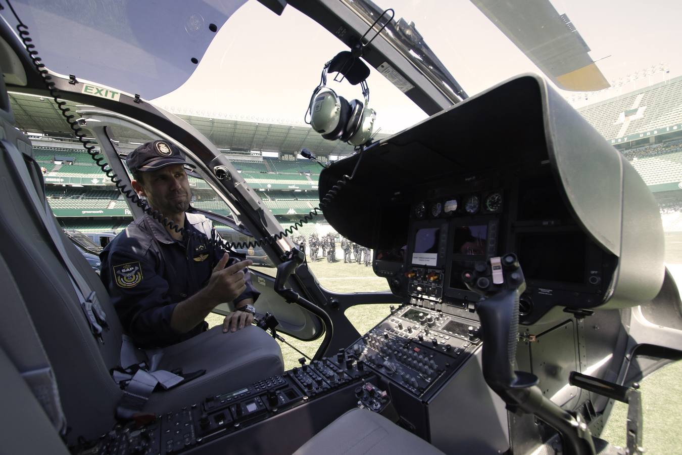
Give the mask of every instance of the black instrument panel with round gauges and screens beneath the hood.
<path id="1" fill-rule="evenodd" d="M 552 306 L 601 302 L 615 261 L 576 224 L 548 164 L 432 184 L 414 191 L 409 204 L 406 245 L 374 256 L 374 271 L 389 278 L 394 293 L 473 310 L 480 297 L 466 287 L 462 272 L 514 252 L 527 277 L 522 323 L 537 321 Z"/>

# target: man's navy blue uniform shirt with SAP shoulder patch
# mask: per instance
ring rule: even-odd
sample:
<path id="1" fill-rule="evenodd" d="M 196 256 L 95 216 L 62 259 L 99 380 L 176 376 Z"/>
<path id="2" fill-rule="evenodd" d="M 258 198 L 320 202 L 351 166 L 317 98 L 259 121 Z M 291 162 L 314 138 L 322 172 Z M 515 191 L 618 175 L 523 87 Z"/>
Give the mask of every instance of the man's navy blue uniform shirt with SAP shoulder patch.
<path id="1" fill-rule="evenodd" d="M 185 229 L 219 238 L 211 221 L 203 215 L 186 214 Z M 164 347 L 192 338 L 206 329 L 205 323 L 181 334 L 170 327 L 170 316 L 178 302 L 206 286 L 213 267 L 222 258 L 220 248 L 185 236 L 175 240 L 148 215 L 135 220 L 100 253 L 102 282 L 107 287 L 123 329 L 139 347 Z M 226 267 L 243 261 L 230 252 Z M 246 291 L 235 303 L 256 291 L 245 271 Z"/>

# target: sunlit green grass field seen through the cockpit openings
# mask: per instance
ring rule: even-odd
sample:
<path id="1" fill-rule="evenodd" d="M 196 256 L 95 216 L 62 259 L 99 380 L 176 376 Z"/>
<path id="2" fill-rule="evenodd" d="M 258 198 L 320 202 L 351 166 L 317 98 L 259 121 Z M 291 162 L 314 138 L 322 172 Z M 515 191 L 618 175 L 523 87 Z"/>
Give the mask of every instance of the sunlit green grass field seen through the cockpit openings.
<path id="1" fill-rule="evenodd" d="M 356 263 L 344 264 L 340 251 L 340 248 L 337 248 L 337 257 L 340 257 L 341 261 L 336 263 L 327 263 L 326 260 L 309 263 L 323 287 L 331 291 L 345 293 L 388 290 L 385 278 L 374 275 L 372 267 L 365 267 Z M 682 248 L 680 248 L 680 252 L 682 252 Z M 682 267 L 673 265 L 670 269 L 676 276 L 680 277 L 678 282 L 681 282 Z M 262 267 L 258 267 L 258 270 L 271 275 L 274 271 L 274 269 L 263 269 Z M 368 332 L 388 314 L 389 305 L 387 304 L 359 305 L 346 311 L 349 320 L 361 334 Z M 222 323 L 222 316 L 211 314 L 207 321 L 213 326 Z M 286 335 L 284 338 L 310 357 L 314 355 L 321 343 L 321 338 L 312 342 L 303 342 Z M 285 368 L 298 366 L 298 359 L 301 355 L 286 344 L 280 342 L 280 346 L 282 347 Z M 644 447 L 648 454 L 682 454 L 682 431 L 680 431 L 682 428 L 681 379 L 682 362 L 677 362 L 665 366 L 642 381 L 640 391 L 644 405 Z M 615 445 L 625 446 L 626 415 L 627 406 L 617 403 L 604 428 L 602 437 Z"/>

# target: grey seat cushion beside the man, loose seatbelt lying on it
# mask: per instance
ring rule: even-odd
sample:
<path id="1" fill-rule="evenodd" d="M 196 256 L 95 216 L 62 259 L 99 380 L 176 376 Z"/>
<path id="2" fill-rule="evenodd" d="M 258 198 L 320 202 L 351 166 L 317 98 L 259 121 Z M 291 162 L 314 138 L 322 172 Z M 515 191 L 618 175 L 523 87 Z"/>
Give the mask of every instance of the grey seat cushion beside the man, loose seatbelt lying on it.
<path id="1" fill-rule="evenodd" d="M 255 325 L 222 333 L 213 327 L 164 349 L 160 370 L 182 367 L 183 373 L 207 370 L 206 374 L 164 392 L 155 392 L 145 410 L 175 411 L 198 403 L 207 395 L 231 392 L 253 381 L 284 372 L 279 344 Z"/>

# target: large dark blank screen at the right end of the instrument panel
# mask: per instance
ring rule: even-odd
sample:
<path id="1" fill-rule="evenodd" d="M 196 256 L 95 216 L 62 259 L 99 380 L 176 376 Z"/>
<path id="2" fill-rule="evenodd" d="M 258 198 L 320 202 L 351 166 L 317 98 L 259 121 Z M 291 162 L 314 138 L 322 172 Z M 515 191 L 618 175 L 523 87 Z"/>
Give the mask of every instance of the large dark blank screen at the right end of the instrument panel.
<path id="1" fill-rule="evenodd" d="M 585 240 L 580 232 L 520 233 L 516 250 L 525 278 L 584 282 Z"/>

